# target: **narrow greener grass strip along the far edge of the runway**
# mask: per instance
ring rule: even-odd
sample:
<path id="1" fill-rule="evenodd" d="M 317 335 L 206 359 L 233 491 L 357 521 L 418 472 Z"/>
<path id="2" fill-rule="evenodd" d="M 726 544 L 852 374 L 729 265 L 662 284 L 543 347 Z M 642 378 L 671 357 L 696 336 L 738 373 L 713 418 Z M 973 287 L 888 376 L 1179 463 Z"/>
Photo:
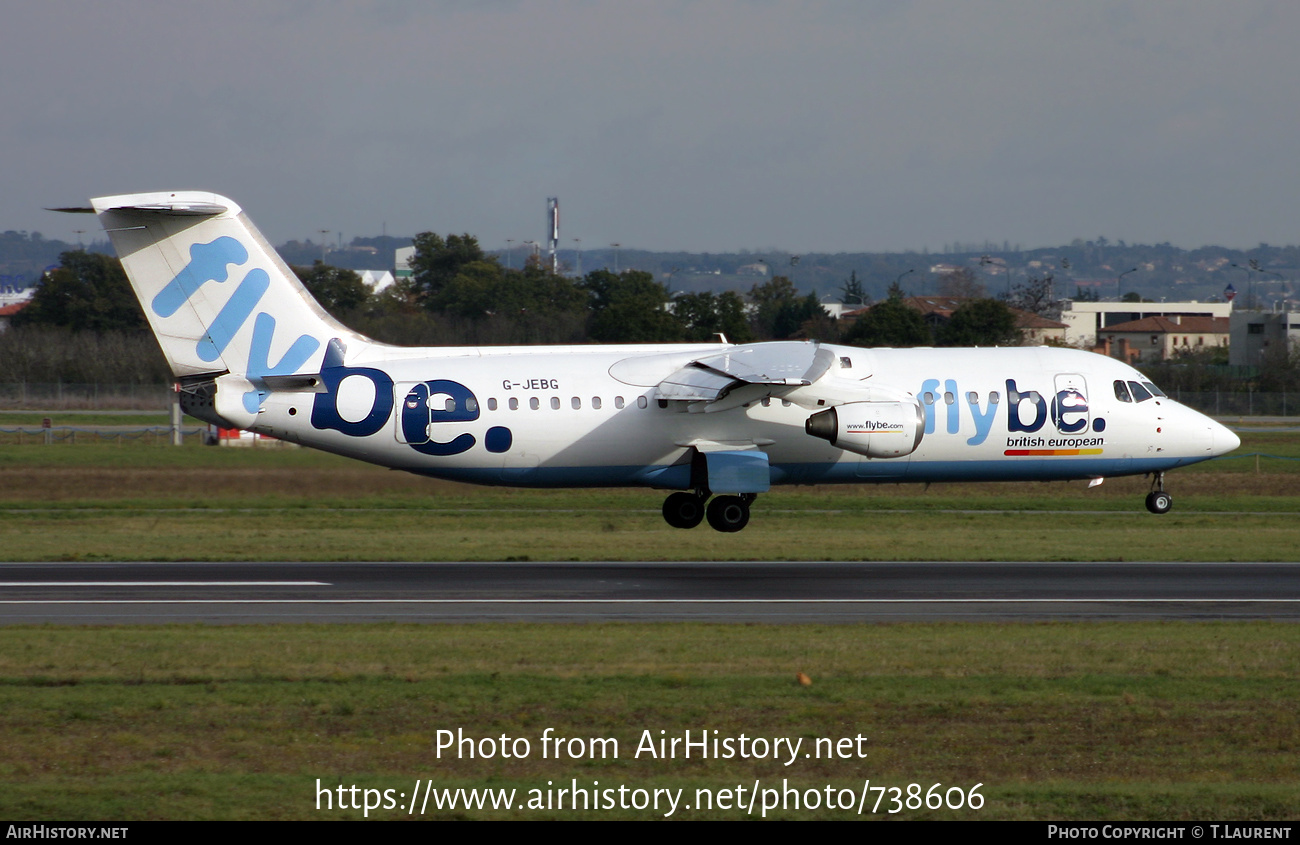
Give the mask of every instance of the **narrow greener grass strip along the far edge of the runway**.
<path id="1" fill-rule="evenodd" d="M 775 497 L 774 497 L 775 498 Z M 540 503 L 540 502 L 538 502 Z M 653 503 L 638 503 L 641 507 Z M 772 507 L 780 507 L 780 500 Z M 1295 560 L 1287 514 L 755 510 L 741 534 L 653 510 L 0 512 L 8 560 Z"/>

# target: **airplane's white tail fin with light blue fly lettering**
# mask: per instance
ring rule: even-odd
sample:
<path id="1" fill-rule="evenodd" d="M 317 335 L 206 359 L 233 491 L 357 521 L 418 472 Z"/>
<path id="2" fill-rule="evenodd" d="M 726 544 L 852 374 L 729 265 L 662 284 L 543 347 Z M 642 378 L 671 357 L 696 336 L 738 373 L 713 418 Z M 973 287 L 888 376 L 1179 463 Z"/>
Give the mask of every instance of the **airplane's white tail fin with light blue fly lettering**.
<path id="1" fill-rule="evenodd" d="M 364 341 L 320 307 L 226 198 L 164 191 L 91 204 L 172 372 L 230 384 L 218 402 L 225 419 L 251 424 L 268 376 L 318 373 L 332 338 Z M 235 394 L 247 413 L 231 404 Z"/>

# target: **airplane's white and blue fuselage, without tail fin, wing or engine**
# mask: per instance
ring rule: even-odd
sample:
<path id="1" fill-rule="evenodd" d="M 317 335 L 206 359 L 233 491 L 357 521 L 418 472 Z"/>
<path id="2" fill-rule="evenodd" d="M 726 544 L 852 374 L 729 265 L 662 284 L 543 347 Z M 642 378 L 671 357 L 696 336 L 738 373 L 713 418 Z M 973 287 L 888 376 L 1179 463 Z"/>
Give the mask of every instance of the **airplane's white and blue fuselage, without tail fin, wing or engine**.
<path id="1" fill-rule="evenodd" d="M 719 412 L 656 399 L 662 380 L 718 348 L 376 346 L 337 370 L 328 391 L 272 393 L 254 429 L 476 484 L 679 489 L 680 476 L 664 469 L 693 448 L 758 448 L 772 484 L 826 484 L 1096 478 L 1162 472 L 1239 443 L 1171 399 L 1121 400 L 1117 381 L 1145 382 L 1131 367 L 1046 347 L 827 346 L 829 372 L 785 398 L 754 395 Z M 864 458 L 805 432 L 818 395 L 871 390 L 922 400 L 915 451 Z"/>

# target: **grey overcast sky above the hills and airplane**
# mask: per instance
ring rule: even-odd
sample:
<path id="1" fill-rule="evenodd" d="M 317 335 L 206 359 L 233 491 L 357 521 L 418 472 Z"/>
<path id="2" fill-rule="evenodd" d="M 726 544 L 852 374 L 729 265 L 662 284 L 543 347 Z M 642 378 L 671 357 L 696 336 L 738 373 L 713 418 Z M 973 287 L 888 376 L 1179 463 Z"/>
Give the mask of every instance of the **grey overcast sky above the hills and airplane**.
<path id="1" fill-rule="evenodd" d="M 1300 3 L 0 0 L 0 230 L 200 188 L 276 243 L 1297 243 Z M 337 235 L 334 235 L 337 237 Z"/>

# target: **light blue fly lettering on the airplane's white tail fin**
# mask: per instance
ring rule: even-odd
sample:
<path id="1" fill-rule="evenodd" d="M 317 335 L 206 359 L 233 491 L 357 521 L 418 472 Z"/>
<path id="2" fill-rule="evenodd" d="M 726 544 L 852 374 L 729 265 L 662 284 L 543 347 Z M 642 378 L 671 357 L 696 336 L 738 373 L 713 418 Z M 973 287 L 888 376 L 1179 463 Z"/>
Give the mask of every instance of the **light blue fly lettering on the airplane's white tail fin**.
<path id="1" fill-rule="evenodd" d="M 150 307 L 160 317 L 170 317 L 190 302 L 204 285 L 226 282 L 230 278 L 230 266 L 239 266 L 246 261 L 248 261 L 248 250 L 229 235 L 222 235 L 208 243 L 195 243 L 190 247 L 190 263 L 159 291 Z M 299 335 L 278 361 L 270 363 L 276 317 L 260 311 L 254 318 L 254 312 L 257 311 L 257 306 L 269 289 L 270 276 L 266 270 L 251 268 L 244 273 L 243 280 L 226 299 L 220 312 L 214 316 L 199 315 L 205 330 L 195 343 L 194 351 L 200 360 L 208 363 L 221 360 L 235 335 L 252 318 L 252 339 L 248 344 L 248 358 L 243 374 L 250 380 L 261 376 L 289 374 L 307 363 L 307 359 L 321 344 L 320 341 L 307 334 Z M 231 372 L 240 369 L 234 361 L 228 361 L 226 367 Z M 255 390 L 244 394 L 244 408 L 256 412 L 264 398 L 264 391 Z"/>

